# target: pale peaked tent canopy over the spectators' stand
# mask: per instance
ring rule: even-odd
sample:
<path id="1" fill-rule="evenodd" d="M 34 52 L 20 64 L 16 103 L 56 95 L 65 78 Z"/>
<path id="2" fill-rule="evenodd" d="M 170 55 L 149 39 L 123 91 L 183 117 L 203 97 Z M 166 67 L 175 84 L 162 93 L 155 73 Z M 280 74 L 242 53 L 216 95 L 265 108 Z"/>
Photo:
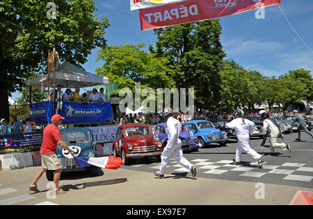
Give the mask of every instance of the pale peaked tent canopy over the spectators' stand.
<path id="1" fill-rule="evenodd" d="M 70 62 L 64 62 L 55 72 L 51 72 L 49 80 L 50 87 L 61 85 L 66 88 L 75 88 L 109 84 L 109 78 L 84 71 Z M 48 75 L 27 80 L 26 86 L 41 86 L 42 82 L 44 87 L 48 87 Z"/>

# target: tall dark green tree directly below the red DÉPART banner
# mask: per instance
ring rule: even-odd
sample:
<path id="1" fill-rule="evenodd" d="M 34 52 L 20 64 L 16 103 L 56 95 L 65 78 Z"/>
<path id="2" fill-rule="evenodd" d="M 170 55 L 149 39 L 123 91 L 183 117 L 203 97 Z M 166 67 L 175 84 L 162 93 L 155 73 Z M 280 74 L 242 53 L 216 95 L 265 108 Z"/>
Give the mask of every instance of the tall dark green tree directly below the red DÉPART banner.
<path id="1" fill-rule="evenodd" d="M 218 19 L 158 28 L 156 53 L 168 58 L 176 87 L 195 89 L 195 105 L 214 109 L 219 99 L 220 64 L 225 57 Z"/>

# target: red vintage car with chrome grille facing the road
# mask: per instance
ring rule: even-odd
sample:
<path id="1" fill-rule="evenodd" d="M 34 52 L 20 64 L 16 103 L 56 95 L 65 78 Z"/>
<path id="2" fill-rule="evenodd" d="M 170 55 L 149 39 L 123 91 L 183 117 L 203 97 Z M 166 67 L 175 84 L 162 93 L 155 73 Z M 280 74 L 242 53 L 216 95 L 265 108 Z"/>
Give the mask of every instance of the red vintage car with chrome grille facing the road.
<path id="1" fill-rule="evenodd" d="M 131 123 L 121 125 L 118 128 L 117 136 L 113 141 L 115 157 L 122 157 L 125 165 L 129 159 L 142 157 L 157 157 L 161 161 L 163 144 L 159 139 L 154 139 L 152 129 L 149 125 Z"/>

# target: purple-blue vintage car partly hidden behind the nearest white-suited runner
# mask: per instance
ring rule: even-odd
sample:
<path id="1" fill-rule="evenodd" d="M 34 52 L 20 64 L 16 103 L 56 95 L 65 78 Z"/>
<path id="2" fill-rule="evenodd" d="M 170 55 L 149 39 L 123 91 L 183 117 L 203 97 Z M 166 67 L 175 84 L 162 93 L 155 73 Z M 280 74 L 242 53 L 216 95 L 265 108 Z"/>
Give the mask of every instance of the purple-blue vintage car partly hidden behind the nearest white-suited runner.
<path id="1" fill-rule="evenodd" d="M 154 136 L 157 136 L 163 145 L 166 146 L 168 141 L 168 132 L 166 123 L 159 123 L 154 130 Z M 193 137 L 193 132 L 190 132 L 185 125 L 182 125 L 182 134 L 179 135 L 179 139 L 182 140 L 183 152 L 198 151 L 198 139 Z"/>

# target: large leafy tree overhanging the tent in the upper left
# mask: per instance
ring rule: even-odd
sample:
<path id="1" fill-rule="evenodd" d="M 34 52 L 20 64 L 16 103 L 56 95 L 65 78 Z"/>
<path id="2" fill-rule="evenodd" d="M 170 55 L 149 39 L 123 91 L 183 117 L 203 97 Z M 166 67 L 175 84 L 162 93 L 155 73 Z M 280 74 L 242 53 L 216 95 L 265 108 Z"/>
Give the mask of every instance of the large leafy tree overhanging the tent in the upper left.
<path id="1" fill-rule="evenodd" d="M 92 49 L 106 46 L 104 30 L 109 22 L 93 15 L 94 1 L 54 0 L 56 19 L 48 19 L 47 2 L 0 1 L 1 117 L 8 118 L 8 95 L 21 90 L 25 78 L 39 71 L 49 49 L 55 47 L 61 61 L 80 65 Z"/>

